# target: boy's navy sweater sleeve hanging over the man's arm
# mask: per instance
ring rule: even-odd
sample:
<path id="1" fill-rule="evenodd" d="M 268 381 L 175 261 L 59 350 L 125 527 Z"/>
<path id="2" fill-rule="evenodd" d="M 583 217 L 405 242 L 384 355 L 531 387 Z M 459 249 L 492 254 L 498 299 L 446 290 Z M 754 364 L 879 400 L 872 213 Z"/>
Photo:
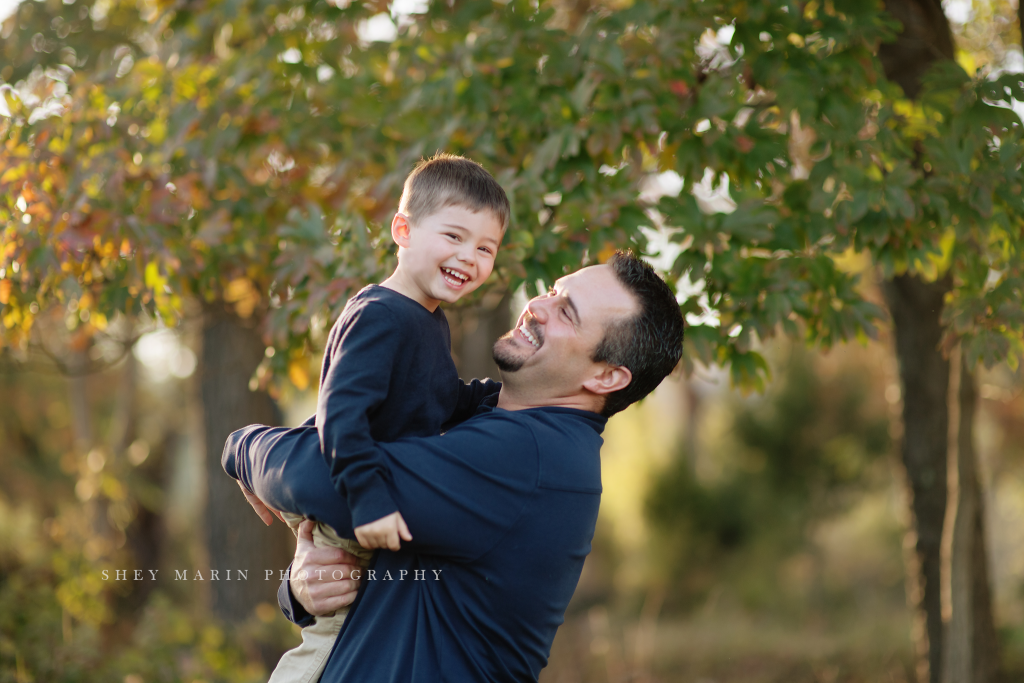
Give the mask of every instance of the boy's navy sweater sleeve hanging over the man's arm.
<path id="1" fill-rule="evenodd" d="M 316 430 L 331 481 L 348 502 L 356 526 L 397 510 L 371 438 L 370 419 L 387 398 L 395 355 L 408 341 L 403 334 L 408 331 L 394 314 L 371 301 L 351 312 L 328 349 Z"/>

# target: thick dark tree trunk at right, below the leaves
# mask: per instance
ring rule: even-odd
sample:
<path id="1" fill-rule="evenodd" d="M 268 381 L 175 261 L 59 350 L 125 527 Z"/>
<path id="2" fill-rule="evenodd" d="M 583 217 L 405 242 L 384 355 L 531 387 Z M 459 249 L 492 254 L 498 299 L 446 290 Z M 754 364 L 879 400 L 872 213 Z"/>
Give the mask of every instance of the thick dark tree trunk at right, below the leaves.
<path id="1" fill-rule="evenodd" d="M 907 596 L 924 612 L 915 633 L 919 680 L 940 683 L 942 667 L 942 525 L 946 513 L 949 361 L 942 357 L 939 316 L 948 276 L 926 283 L 900 275 L 885 284 L 893 316 L 896 357 L 903 385 L 903 465 L 910 486 L 916 570 Z"/>

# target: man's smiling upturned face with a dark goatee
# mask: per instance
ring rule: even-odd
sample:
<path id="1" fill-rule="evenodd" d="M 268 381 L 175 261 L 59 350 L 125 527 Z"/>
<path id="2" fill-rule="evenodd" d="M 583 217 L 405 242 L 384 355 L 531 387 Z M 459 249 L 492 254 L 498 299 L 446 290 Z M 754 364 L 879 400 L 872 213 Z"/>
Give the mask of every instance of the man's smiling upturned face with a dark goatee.
<path id="1" fill-rule="evenodd" d="M 495 343 L 502 379 L 531 390 L 574 392 L 598 364 L 591 357 L 610 323 L 638 304 L 610 266 L 583 268 L 526 304 L 516 327 Z"/>

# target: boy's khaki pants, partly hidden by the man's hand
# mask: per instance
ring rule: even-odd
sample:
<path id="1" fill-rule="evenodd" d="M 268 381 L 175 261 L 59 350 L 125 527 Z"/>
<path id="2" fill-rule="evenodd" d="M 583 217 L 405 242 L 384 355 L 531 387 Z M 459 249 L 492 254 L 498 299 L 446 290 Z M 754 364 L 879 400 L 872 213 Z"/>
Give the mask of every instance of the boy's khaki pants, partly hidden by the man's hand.
<path id="1" fill-rule="evenodd" d="M 282 513 L 285 521 L 298 536 L 299 524 L 305 519 L 301 515 L 289 512 Z M 338 533 L 323 522 L 313 527 L 313 545 L 317 548 L 341 548 L 355 555 L 359 565 L 366 568 L 374 552 L 367 550 L 355 541 L 342 539 Z M 315 617 L 315 621 L 302 629 L 302 644 L 285 652 L 278 663 L 276 669 L 270 674 L 269 683 L 315 683 L 319 680 L 327 657 L 331 654 L 334 641 L 338 639 L 341 625 L 348 616 L 348 607 L 342 607 L 333 614 Z"/>

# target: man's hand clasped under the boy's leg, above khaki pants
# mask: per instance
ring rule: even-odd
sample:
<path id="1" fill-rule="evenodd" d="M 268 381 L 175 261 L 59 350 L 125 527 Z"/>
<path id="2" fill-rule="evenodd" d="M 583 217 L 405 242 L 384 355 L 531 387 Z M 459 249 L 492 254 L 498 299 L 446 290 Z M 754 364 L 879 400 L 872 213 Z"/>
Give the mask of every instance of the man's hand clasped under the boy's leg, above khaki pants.
<path id="1" fill-rule="evenodd" d="M 341 548 L 316 548 L 313 545 L 313 524 L 306 519 L 299 525 L 299 541 L 295 546 L 289 585 L 299 604 L 310 614 L 318 616 L 352 604 L 359 590 L 359 581 L 352 579 L 351 572 L 362 567 L 354 555 Z"/>

